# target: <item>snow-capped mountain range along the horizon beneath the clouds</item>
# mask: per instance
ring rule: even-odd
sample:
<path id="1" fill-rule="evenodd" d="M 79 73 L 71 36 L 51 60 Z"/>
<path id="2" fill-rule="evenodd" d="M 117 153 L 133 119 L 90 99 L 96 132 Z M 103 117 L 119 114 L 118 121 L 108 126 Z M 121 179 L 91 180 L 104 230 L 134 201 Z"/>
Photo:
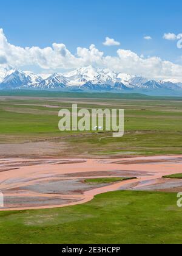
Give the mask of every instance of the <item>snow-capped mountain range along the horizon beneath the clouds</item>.
<path id="1" fill-rule="evenodd" d="M 113 91 L 148 94 L 180 94 L 182 83 L 167 80 L 150 80 L 141 76 L 115 73 L 92 66 L 78 68 L 65 74 L 43 77 L 12 67 L 0 69 L 0 90 L 64 90 Z"/>

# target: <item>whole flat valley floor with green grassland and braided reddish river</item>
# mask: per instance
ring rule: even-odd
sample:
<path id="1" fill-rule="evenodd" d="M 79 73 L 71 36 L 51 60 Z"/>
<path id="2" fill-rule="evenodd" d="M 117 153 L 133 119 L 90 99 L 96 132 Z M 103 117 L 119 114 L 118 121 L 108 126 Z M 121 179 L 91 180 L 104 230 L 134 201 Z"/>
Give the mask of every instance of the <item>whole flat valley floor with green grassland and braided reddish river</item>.
<path id="1" fill-rule="evenodd" d="M 0 96 L 0 243 L 181 243 L 181 102 Z M 59 132 L 75 103 L 124 108 L 124 137 Z"/>

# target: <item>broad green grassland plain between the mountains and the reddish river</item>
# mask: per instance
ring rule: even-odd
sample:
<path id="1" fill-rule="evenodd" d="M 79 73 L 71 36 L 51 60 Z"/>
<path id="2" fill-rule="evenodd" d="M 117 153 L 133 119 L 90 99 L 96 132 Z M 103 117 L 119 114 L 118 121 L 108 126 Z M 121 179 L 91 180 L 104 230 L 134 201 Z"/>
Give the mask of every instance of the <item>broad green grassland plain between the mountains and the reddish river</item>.
<path id="1" fill-rule="evenodd" d="M 122 94 L 123 98 L 111 99 L 109 94 L 104 94 L 106 99 L 104 96 L 96 99 L 83 98 L 82 93 L 75 95 L 80 98 L 1 97 L 0 143 L 64 141 L 68 145 L 67 152 L 71 148 L 73 154 L 77 152 L 78 155 L 181 153 L 181 98 L 158 99 L 140 94 L 136 98 L 135 95 L 124 98 Z M 90 112 L 91 108 L 124 108 L 124 137 L 112 138 L 112 131 L 60 132 L 58 112 L 61 108 L 72 110 L 72 103 L 77 103 L 79 108 L 88 108 Z"/>

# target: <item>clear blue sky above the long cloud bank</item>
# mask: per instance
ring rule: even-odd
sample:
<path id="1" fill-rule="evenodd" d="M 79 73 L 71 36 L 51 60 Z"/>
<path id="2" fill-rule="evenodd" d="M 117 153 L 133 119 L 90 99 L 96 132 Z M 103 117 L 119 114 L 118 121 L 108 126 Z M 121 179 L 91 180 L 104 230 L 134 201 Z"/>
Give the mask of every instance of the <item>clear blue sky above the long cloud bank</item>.
<path id="1" fill-rule="evenodd" d="M 164 33 L 182 33 L 181 13 L 179 0 L 7 0 L 1 2 L 0 27 L 10 44 L 22 48 L 64 43 L 75 54 L 78 46 L 95 44 L 104 55 L 115 56 L 120 48 L 182 65 L 182 49 L 163 39 Z M 152 40 L 144 40 L 147 35 Z M 106 37 L 121 45 L 104 46 Z"/>

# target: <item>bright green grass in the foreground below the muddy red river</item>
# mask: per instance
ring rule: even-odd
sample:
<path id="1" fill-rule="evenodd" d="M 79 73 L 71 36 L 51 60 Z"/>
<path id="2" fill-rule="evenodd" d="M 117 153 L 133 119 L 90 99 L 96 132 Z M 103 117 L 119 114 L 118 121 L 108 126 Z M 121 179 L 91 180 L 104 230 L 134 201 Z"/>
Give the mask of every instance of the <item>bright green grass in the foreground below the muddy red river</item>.
<path id="1" fill-rule="evenodd" d="M 116 191 L 84 205 L 0 212 L 0 243 L 179 243 L 175 193 Z"/>

